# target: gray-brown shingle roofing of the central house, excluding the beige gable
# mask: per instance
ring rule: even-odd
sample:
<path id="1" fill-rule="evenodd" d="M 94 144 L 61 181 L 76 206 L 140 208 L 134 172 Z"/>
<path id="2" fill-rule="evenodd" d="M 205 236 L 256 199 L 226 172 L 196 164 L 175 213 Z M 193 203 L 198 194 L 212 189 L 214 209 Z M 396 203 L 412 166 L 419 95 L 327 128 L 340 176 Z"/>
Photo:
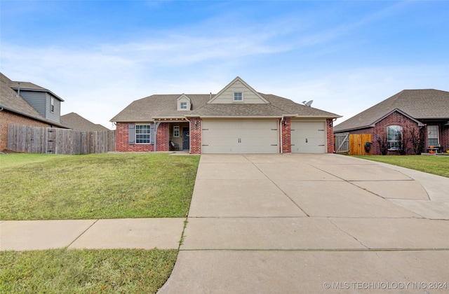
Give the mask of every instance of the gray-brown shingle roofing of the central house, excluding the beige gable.
<path id="1" fill-rule="evenodd" d="M 297 104 L 272 94 L 262 94 L 269 104 L 207 104 L 215 94 L 185 94 L 191 99 L 192 110 L 177 111 L 177 98 L 181 94 L 156 94 L 136 100 L 111 119 L 113 122 L 148 122 L 153 118 L 200 117 L 269 117 L 299 116 L 339 118 L 335 113 Z"/>

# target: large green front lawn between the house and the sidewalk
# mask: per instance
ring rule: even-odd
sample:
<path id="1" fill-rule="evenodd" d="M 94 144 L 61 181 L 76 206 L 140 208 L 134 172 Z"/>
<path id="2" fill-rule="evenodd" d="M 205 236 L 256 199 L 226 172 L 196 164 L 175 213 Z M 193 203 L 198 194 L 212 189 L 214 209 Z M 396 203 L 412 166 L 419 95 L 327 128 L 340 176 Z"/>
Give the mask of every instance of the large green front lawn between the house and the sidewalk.
<path id="1" fill-rule="evenodd" d="M 185 217 L 199 156 L 1 154 L 0 219 Z"/>

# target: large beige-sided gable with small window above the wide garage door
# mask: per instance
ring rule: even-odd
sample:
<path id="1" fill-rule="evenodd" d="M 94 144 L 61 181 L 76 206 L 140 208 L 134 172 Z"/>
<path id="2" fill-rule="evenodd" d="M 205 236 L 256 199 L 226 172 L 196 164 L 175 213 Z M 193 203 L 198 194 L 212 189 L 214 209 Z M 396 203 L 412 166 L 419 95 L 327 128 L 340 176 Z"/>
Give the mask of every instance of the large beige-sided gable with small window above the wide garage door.
<path id="1" fill-rule="evenodd" d="M 218 92 L 208 104 L 269 104 L 256 90 L 240 77 Z"/>

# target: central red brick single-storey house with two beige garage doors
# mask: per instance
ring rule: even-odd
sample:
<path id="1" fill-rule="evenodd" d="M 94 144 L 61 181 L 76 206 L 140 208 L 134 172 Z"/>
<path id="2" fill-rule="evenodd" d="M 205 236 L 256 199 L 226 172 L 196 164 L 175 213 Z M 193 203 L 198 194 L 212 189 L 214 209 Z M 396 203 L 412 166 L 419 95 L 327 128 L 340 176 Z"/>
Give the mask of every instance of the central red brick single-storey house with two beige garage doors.
<path id="1" fill-rule="evenodd" d="M 340 116 L 262 94 L 237 77 L 217 94 L 155 94 L 112 118 L 116 151 L 333 153 Z M 172 144 L 173 142 L 173 144 Z"/>

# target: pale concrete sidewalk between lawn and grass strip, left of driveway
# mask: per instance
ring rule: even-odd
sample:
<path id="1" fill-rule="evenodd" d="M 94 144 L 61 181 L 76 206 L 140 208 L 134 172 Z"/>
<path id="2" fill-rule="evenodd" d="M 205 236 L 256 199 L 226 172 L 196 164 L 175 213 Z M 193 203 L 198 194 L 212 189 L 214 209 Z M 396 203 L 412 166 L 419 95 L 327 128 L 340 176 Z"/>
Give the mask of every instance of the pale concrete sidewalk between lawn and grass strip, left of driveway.
<path id="1" fill-rule="evenodd" d="M 185 218 L 1 221 L 0 250 L 177 249 Z"/>

